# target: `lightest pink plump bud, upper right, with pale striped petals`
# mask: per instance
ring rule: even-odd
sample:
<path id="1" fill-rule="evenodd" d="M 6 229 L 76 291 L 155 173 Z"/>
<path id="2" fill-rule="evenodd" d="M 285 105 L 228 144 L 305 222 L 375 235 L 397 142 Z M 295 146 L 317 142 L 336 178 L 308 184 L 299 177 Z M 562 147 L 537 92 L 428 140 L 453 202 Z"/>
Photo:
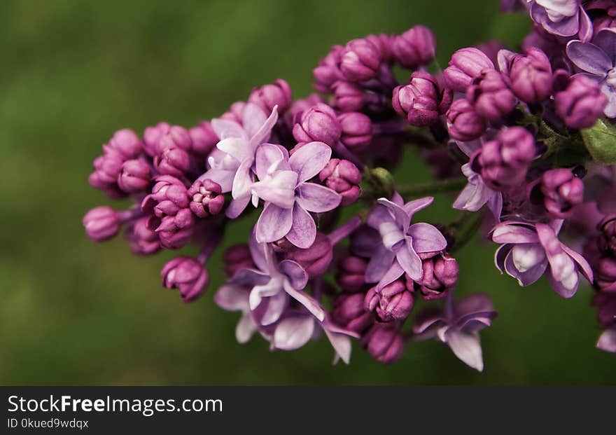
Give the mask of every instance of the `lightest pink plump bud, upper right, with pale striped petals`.
<path id="1" fill-rule="evenodd" d="M 474 47 L 461 48 L 451 55 L 449 67 L 443 71 L 447 87 L 458 92 L 466 92 L 472 81 L 485 69 L 494 69 L 494 64 L 482 50 Z"/>

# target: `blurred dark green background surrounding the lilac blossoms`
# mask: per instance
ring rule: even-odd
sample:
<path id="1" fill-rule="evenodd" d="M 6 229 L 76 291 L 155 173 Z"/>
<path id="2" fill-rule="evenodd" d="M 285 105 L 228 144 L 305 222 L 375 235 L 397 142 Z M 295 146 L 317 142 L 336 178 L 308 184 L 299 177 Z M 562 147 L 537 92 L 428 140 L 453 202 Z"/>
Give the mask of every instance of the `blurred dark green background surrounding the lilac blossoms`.
<path id="1" fill-rule="evenodd" d="M 160 285 L 169 252 L 137 258 L 121 238 L 87 240 L 83 214 L 110 203 L 87 175 L 118 128 L 194 125 L 279 77 L 305 96 L 330 45 L 417 23 L 435 30 L 441 65 L 456 48 L 495 37 L 514 46 L 528 30 L 525 17 L 499 15 L 496 0 L 0 2 L 0 382 L 614 383 L 615 356 L 594 348 L 591 291 L 565 301 L 545 282 L 522 289 L 493 267 L 492 245 L 458 254 L 458 293 L 485 291 L 500 312 L 482 332 L 477 373 L 436 342 L 409 345 L 393 366 L 358 345 L 351 366 L 332 366 L 324 340 L 296 352 L 269 352 L 257 337 L 238 345 L 237 313 L 211 301 L 220 252 L 208 293 L 185 305 Z M 400 171 L 426 177 L 416 161 Z M 424 217 L 452 219 L 447 201 Z"/>

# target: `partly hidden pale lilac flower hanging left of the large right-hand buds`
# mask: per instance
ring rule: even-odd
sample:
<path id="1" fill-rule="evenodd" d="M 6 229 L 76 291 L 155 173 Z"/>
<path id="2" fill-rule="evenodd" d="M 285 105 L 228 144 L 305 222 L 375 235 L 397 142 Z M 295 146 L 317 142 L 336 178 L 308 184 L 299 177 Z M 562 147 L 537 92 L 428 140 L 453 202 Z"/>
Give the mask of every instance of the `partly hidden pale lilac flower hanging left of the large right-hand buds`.
<path id="1" fill-rule="evenodd" d="M 485 136 L 474 141 L 456 141 L 456 144 L 470 158 L 475 151 L 482 147 L 485 141 L 484 138 Z M 468 179 L 468 184 L 454 201 L 454 209 L 477 212 L 484 205 L 487 205 L 496 221 L 499 222 L 500 213 L 503 211 L 503 193 L 489 188 L 484 183 L 482 177 L 472 170 L 470 163 L 462 165 L 462 173 Z"/>

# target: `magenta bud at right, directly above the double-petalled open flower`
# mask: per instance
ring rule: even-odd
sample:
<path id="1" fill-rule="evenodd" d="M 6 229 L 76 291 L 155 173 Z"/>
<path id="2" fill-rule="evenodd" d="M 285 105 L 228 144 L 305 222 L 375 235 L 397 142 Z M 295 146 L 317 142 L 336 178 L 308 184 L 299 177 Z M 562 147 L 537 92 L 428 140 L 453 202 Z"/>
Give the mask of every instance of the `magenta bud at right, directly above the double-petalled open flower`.
<path id="1" fill-rule="evenodd" d="M 549 217 L 565 219 L 573 207 L 584 200 L 584 183 L 570 169 L 558 168 L 543 173 L 531 189 L 531 201 L 545 207 Z"/>

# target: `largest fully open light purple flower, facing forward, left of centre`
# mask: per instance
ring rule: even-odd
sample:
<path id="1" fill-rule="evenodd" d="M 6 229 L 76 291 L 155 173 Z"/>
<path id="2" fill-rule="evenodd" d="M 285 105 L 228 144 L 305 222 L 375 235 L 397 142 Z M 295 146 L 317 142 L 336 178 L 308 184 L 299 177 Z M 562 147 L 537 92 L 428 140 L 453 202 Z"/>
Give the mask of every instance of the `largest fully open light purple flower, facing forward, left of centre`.
<path id="1" fill-rule="evenodd" d="M 342 200 L 332 189 L 307 182 L 328 164 L 331 154 L 323 142 L 309 142 L 290 158 L 281 146 L 259 147 L 255 165 L 259 181 L 251 187 L 265 201 L 256 225 L 258 242 L 276 242 L 286 237 L 296 247 L 311 246 L 316 224 L 309 212 L 329 212 Z"/>

